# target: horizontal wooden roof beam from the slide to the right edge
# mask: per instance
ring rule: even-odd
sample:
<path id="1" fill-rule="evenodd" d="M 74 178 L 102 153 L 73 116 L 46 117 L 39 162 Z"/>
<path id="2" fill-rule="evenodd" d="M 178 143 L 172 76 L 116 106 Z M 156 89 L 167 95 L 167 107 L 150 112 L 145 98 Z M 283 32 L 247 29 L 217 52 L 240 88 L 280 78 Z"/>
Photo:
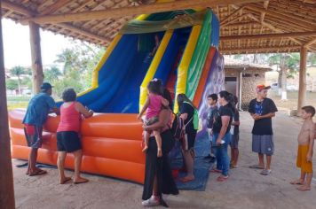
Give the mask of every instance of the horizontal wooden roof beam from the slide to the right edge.
<path id="1" fill-rule="evenodd" d="M 305 36 L 316 36 L 316 31 L 308 32 L 292 32 L 292 33 L 280 33 L 280 34 L 258 34 L 258 35 L 227 35 L 221 36 L 221 41 L 228 40 L 243 40 L 243 39 L 269 39 L 269 38 L 294 38 L 294 37 L 305 37 Z"/>

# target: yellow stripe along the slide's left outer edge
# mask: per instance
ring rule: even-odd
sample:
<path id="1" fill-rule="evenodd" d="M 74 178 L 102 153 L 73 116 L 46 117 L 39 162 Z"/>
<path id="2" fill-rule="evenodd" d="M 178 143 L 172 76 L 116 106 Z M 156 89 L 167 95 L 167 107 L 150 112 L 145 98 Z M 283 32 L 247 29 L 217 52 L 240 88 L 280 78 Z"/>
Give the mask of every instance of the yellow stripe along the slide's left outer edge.
<path id="1" fill-rule="evenodd" d="M 94 70 L 92 72 L 92 87 L 90 89 L 86 89 L 85 91 L 79 93 L 78 96 L 82 96 L 86 93 L 91 92 L 91 90 L 98 88 L 98 86 L 99 86 L 99 70 L 106 63 L 107 58 L 110 56 L 112 51 L 115 49 L 117 43 L 120 42 L 121 38 L 122 38 L 122 35 L 120 35 L 120 34 L 115 35 L 115 39 L 112 41 L 112 43 L 107 48 L 106 53 L 100 59 L 98 66 L 96 68 L 94 68 Z"/>

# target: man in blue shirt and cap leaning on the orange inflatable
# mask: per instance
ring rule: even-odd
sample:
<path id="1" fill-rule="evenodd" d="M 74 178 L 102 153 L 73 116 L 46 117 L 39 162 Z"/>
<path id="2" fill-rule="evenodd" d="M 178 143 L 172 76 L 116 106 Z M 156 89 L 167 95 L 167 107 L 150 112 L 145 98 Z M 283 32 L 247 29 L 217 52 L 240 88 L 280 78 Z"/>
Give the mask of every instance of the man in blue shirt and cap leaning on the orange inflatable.
<path id="1" fill-rule="evenodd" d="M 59 114 L 54 99 L 51 97 L 51 84 L 43 82 L 41 92 L 32 97 L 28 103 L 28 109 L 22 123 L 27 139 L 28 147 L 31 151 L 28 156 L 29 176 L 46 174 L 47 172 L 36 167 L 37 150 L 42 146 L 43 124 L 47 120 L 50 112 Z"/>

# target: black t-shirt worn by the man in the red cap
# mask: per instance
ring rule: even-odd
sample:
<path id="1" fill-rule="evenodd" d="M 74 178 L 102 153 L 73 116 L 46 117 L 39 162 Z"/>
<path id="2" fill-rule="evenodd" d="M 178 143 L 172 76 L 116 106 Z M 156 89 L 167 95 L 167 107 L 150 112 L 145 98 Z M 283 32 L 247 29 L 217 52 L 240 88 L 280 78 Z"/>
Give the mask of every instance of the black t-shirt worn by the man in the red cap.
<path id="1" fill-rule="evenodd" d="M 253 114 L 265 115 L 268 113 L 278 112 L 277 107 L 270 98 L 265 98 L 262 102 L 253 99 L 249 104 L 249 112 Z M 273 120 L 272 118 L 255 120 L 253 135 L 273 135 Z"/>

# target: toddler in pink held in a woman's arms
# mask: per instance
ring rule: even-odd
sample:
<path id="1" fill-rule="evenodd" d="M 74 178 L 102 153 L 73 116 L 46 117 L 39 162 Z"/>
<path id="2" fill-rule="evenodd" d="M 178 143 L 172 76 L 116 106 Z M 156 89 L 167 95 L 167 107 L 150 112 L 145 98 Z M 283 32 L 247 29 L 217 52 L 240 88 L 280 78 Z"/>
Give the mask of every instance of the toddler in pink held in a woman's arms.
<path id="1" fill-rule="evenodd" d="M 148 86 L 148 97 L 146 99 L 146 103 L 138 114 L 138 120 L 140 120 L 143 113 L 146 111 L 146 119 L 144 123 L 146 126 L 152 125 L 155 122 L 158 122 L 158 115 L 163 106 L 168 106 L 169 102 L 163 98 L 162 95 L 162 81 L 158 79 L 154 79 L 149 82 Z M 157 156 L 162 157 L 162 138 L 160 135 L 160 130 L 154 130 L 154 137 L 157 143 Z M 150 132 L 146 131 L 144 138 L 145 138 L 145 147 L 143 151 L 145 152 L 148 149 L 148 141 L 150 137 Z"/>

